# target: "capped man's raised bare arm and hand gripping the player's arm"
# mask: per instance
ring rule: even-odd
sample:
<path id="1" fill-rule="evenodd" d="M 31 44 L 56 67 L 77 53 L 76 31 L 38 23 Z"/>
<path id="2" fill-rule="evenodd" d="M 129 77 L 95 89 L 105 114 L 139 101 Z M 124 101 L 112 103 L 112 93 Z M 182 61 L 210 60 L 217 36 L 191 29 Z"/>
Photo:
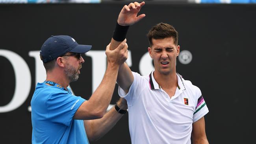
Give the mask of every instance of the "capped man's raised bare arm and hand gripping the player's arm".
<path id="1" fill-rule="evenodd" d="M 107 46 L 108 66 L 104 77 L 91 98 L 80 105 L 73 119 L 91 120 L 102 118 L 112 98 L 119 66 L 128 57 L 127 48 L 126 40 L 122 41 L 115 50 L 109 50 L 109 45 Z"/>

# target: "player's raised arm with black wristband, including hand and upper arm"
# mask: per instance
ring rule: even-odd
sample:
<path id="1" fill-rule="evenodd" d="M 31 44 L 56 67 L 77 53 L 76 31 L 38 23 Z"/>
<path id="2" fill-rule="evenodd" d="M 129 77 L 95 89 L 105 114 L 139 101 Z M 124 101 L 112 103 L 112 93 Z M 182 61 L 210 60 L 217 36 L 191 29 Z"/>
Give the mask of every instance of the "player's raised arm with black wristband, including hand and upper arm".
<path id="1" fill-rule="evenodd" d="M 141 7 L 144 5 L 145 2 L 134 2 L 130 3 L 128 6 L 125 5 L 122 8 L 117 19 L 117 26 L 115 28 L 114 35 L 111 39 L 110 50 L 114 50 L 115 48 L 117 48 L 117 46 L 125 38 L 129 26 L 135 24 L 136 22 L 138 22 L 146 16 L 145 14 L 137 16 Z M 117 77 L 118 85 L 124 91 L 128 92 L 130 86 L 132 85 L 133 80 L 134 77 L 129 66 L 126 63 L 122 64 L 119 68 Z"/>

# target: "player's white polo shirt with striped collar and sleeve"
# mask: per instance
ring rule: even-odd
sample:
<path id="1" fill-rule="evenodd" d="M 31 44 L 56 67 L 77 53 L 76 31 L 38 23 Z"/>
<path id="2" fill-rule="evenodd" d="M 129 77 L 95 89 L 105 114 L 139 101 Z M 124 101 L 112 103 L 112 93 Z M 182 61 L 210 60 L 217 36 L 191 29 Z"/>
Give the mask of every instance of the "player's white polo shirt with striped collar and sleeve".
<path id="1" fill-rule="evenodd" d="M 118 90 L 128 103 L 132 144 L 191 144 L 192 123 L 209 112 L 200 89 L 177 74 L 178 87 L 170 98 L 153 72 L 132 72 L 129 92 Z"/>

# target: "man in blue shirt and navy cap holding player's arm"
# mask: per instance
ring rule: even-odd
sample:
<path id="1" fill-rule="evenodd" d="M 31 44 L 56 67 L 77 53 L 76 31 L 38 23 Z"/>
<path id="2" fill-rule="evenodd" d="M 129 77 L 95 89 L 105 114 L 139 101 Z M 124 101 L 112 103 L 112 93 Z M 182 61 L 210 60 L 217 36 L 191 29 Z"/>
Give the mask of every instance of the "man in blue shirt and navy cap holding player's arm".
<path id="1" fill-rule="evenodd" d="M 124 40 L 116 50 L 106 49 L 108 66 L 102 82 L 89 100 L 74 96 L 67 88 L 76 81 L 90 45 L 80 45 L 72 37 L 56 35 L 41 47 L 40 57 L 46 80 L 37 83 L 31 100 L 32 144 L 88 144 L 111 129 L 126 112 L 120 99 L 108 113 L 119 66 L 127 59 Z M 96 119 L 96 120 L 95 120 Z M 89 139 L 89 140 L 88 140 Z"/>

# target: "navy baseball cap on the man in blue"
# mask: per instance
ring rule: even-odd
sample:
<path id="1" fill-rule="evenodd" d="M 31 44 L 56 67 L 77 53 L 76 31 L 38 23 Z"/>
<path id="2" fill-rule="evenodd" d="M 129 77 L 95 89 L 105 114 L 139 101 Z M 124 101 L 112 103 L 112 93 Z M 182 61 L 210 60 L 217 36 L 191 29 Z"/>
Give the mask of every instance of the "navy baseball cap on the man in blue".
<path id="1" fill-rule="evenodd" d="M 91 50 L 90 45 L 78 44 L 68 35 L 52 35 L 43 44 L 40 50 L 43 63 L 52 61 L 67 52 L 85 53 Z"/>

